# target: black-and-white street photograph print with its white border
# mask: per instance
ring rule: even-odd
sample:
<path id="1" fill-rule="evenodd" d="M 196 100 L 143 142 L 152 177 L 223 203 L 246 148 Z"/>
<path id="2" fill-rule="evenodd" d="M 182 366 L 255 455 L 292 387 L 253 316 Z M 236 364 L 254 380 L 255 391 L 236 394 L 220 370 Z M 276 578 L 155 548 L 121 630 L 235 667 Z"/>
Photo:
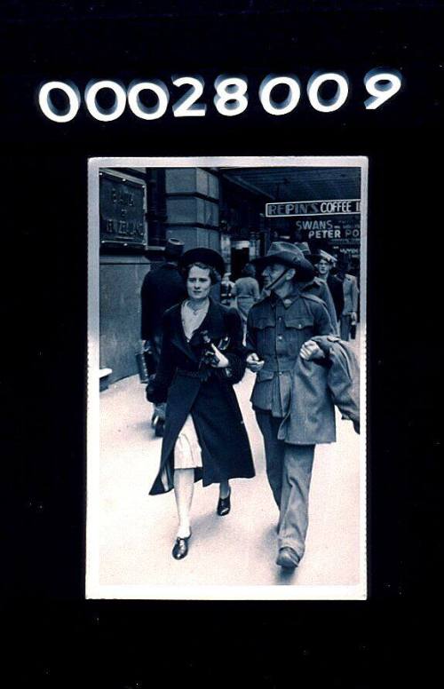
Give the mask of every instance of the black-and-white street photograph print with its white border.
<path id="1" fill-rule="evenodd" d="M 366 598 L 367 185 L 89 161 L 87 598 Z"/>

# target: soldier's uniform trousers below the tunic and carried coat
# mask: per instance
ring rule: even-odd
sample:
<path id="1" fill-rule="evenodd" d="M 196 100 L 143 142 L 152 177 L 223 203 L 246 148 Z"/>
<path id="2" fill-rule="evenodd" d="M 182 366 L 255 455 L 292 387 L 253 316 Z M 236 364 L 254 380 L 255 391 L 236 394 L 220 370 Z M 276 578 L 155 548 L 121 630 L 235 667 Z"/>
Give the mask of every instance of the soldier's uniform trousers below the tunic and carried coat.
<path id="1" fill-rule="evenodd" d="M 278 547 L 305 551 L 308 528 L 308 492 L 312 478 L 314 445 L 290 445 L 278 440 L 282 419 L 256 410 L 266 448 L 266 475 L 279 507 Z"/>

